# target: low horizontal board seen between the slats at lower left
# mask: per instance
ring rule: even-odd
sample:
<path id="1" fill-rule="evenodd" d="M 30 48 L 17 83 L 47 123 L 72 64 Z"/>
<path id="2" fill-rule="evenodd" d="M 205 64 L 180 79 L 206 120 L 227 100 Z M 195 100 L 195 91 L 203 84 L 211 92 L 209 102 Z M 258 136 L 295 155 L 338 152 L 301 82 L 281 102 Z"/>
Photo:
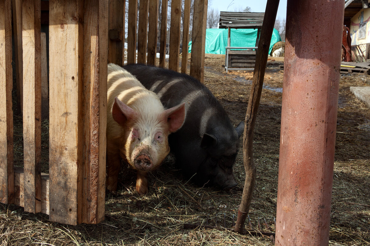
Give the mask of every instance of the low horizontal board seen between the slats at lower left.
<path id="1" fill-rule="evenodd" d="M 24 207 L 24 171 L 14 168 L 14 204 Z M 49 214 L 49 175 L 41 172 L 41 213 Z"/>

